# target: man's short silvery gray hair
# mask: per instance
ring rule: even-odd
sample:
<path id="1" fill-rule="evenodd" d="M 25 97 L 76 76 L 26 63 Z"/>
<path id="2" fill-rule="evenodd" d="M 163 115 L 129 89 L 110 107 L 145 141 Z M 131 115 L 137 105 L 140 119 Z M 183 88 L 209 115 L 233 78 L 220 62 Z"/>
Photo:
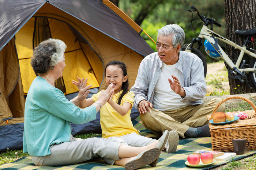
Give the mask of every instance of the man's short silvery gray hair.
<path id="1" fill-rule="evenodd" d="M 159 35 L 172 36 L 172 46 L 176 48 L 178 44 L 180 44 L 182 48 L 185 41 L 185 32 L 179 25 L 177 24 L 165 25 L 162 28 L 158 29 L 157 31 L 158 31 L 157 38 Z"/>

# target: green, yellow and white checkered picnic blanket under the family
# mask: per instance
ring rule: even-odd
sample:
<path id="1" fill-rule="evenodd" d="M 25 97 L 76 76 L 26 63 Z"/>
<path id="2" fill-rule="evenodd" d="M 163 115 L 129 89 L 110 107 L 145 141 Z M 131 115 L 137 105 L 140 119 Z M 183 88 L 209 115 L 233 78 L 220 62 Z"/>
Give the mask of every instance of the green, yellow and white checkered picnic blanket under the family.
<path id="1" fill-rule="evenodd" d="M 144 128 L 144 126 L 140 122 L 140 118 L 136 118 L 133 120 L 133 126 L 140 131 L 140 135 L 146 136 L 146 137 L 152 137 L 157 138 L 156 135 L 154 135 L 151 131 Z M 189 138 L 189 139 L 180 139 L 177 147 L 176 153 L 167 154 L 166 151 L 162 151 L 159 161 L 157 163 L 156 167 L 151 167 L 149 165 L 143 167 L 143 169 L 193 169 L 192 167 L 189 167 L 185 165 L 185 162 L 187 161 L 187 157 L 189 154 L 192 154 L 193 151 L 196 150 L 211 150 L 211 138 Z M 234 160 L 241 159 L 244 157 L 248 157 L 250 155 L 255 154 L 256 151 L 245 151 L 244 155 L 237 155 Z M 227 162 L 230 162 L 232 160 L 227 161 L 216 161 L 212 166 L 208 167 L 202 167 L 202 168 L 196 168 L 196 169 L 209 169 L 215 166 L 219 166 L 222 164 L 225 164 Z M 116 165 L 109 165 L 106 163 L 103 159 L 92 159 L 90 161 L 86 161 L 84 163 L 76 164 L 76 165 L 69 165 L 69 166 L 44 166 L 44 167 L 38 167 L 35 166 L 34 163 L 31 160 L 31 157 L 23 157 L 18 159 L 17 161 L 6 163 L 3 165 L 0 165 L 0 169 L 26 169 L 26 170 L 124 170 L 124 167 L 122 166 L 116 166 Z"/>

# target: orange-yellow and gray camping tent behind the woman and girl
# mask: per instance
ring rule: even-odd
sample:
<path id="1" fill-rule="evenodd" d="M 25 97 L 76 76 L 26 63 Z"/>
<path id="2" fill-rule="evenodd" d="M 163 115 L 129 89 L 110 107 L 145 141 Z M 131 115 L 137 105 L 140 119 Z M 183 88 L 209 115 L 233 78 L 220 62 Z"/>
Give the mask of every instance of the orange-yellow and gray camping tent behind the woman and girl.
<path id="1" fill-rule="evenodd" d="M 112 60 L 127 65 L 132 86 L 143 56 L 154 52 L 142 28 L 108 0 L 0 0 L 0 23 L 0 151 L 22 146 L 14 139 L 23 137 L 24 96 L 36 77 L 30 58 L 41 41 L 67 44 L 63 77 L 55 82 L 65 95 L 78 91 L 76 76 L 105 88 L 103 71 Z"/>

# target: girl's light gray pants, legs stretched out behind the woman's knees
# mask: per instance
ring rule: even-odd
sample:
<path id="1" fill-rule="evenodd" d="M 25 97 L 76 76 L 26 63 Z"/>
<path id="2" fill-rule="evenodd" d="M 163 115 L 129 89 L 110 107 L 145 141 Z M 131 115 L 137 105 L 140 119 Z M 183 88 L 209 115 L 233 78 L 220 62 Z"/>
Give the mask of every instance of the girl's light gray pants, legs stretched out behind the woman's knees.
<path id="1" fill-rule="evenodd" d="M 109 137 L 109 138 L 119 138 L 119 139 L 121 139 L 120 142 L 125 141 L 128 145 L 135 146 L 135 147 L 147 146 L 150 143 L 157 141 L 156 139 L 143 137 L 136 133 L 123 135 L 121 137 Z M 107 139 L 109 139 L 109 138 L 107 138 Z"/>

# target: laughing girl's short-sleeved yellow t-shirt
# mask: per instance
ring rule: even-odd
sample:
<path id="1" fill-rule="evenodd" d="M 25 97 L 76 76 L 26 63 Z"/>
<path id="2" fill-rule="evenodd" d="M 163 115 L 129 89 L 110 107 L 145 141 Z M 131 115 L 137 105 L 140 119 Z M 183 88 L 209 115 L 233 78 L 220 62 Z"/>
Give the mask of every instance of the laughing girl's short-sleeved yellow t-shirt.
<path id="1" fill-rule="evenodd" d="M 114 102 L 118 102 L 118 97 L 122 94 L 123 90 L 118 92 L 113 96 Z M 94 94 L 92 99 L 93 102 L 96 102 L 101 91 L 97 94 Z M 123 106 L 125 102 L 131 103 L 131 108 L 129 109 L 128 113 L 124 116 L 121 116 L 110 104 L 107 102 L 101 107 L 100 115 L 101 115 L 101 131 L 102 131 L 102 138 L 108 137 L 121 137 L 126 134 L 130 133 L 137 133 L 139 135 L 138 130 L 136 130 L 131 121 L 131 110 L 134 101 L 134 93 L 127 92 L 123 96 L 120 105 Z"/>

